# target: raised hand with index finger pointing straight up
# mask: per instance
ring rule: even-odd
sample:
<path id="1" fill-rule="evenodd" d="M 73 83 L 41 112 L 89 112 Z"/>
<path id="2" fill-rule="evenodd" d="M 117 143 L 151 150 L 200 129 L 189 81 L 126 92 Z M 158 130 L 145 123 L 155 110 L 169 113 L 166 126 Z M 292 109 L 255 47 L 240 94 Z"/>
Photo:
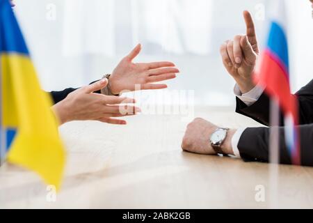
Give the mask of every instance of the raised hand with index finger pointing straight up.
<path id="1" fill-rule="evenodd" d="M 247 93 L 255 87 L 252 73 L 255 71 L 259 47 L 255 33 L 255 24 L 248 11 L 243 12 L 246 22 L 246 35 L 237 35 L 220 47 L 220 54 L 227 71 L 232 75 L 241 93 Z"/>

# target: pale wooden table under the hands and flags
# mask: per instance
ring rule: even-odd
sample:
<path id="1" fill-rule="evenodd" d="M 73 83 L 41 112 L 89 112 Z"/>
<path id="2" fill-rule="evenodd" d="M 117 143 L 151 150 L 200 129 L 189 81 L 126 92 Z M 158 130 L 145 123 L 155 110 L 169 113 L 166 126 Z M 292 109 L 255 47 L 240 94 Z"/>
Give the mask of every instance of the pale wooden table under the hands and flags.
<path id="1" fill-rule="evenodd" d="M 198 108 L 195 116 L 227 127 L 257 126 L 233 111 Z M 4 164 L 0 208 L 313 208 L 313 168 L 278 166 L 277 196 L 271 197 L 270 165 L 182 152 L 182 116 L 128 121 L 126 127 L 97 122 L 61 127 L 67 168 L 54 202 L 38 176 Z M 259 188 L 265 190 L 264 202 L 255 199 Z"/>

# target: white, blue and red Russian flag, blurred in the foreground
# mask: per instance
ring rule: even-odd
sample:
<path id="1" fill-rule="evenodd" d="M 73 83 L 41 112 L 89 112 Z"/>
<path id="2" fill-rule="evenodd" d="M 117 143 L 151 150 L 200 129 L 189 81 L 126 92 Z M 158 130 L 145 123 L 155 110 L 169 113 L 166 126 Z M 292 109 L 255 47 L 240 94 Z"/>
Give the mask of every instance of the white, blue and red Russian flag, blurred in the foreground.
<path id="1" fill-rule="evenodd" d="M 300 165 L 300 138 L 298 130 L 298 100 L 291 94 L 289 53 L 284 2 L 271 18 L 270 31 L 257 81 L 266 93 L 277 100 L 284 114 L 285 139 L 293 164 Z"/>

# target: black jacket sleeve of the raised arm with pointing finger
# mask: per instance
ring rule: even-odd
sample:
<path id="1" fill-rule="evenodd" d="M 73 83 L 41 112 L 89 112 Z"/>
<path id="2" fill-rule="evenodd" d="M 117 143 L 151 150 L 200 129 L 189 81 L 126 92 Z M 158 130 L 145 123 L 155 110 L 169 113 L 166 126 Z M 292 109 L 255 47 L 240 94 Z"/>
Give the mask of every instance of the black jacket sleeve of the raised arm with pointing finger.
<path id="1" fill-rule="evenodd" d="M 296 93 L 299 105 L 300 125 L 313 123 L 313 80 Z M 269 125 L 270 100 L 263 93 L 259 100 L 251 106 L 247 106 L 239 98 L 236 98 L 236 112 L 248 116 L 264 125 Z M 284 125 L 283 116 L 280 114 L 280 125 Z"/>

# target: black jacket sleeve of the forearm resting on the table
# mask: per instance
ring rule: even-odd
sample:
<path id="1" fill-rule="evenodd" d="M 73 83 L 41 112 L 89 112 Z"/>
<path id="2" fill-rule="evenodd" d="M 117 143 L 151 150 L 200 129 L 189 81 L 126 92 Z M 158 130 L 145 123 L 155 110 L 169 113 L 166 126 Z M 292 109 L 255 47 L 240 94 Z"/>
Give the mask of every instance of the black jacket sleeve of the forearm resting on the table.
<path id="1" fill-rule="evenodd" d="M 284 139 L 284 128 L 280 131 L 280 163 L 291 164 L 291 159 Z M 300 152 L 301 164 L 313 166 L 313 124 L 301 125 L 300 129 Z M 268 162 L 269 128 L 247 128 L 239 140 L 238 149 L 243 160 Z"/>

